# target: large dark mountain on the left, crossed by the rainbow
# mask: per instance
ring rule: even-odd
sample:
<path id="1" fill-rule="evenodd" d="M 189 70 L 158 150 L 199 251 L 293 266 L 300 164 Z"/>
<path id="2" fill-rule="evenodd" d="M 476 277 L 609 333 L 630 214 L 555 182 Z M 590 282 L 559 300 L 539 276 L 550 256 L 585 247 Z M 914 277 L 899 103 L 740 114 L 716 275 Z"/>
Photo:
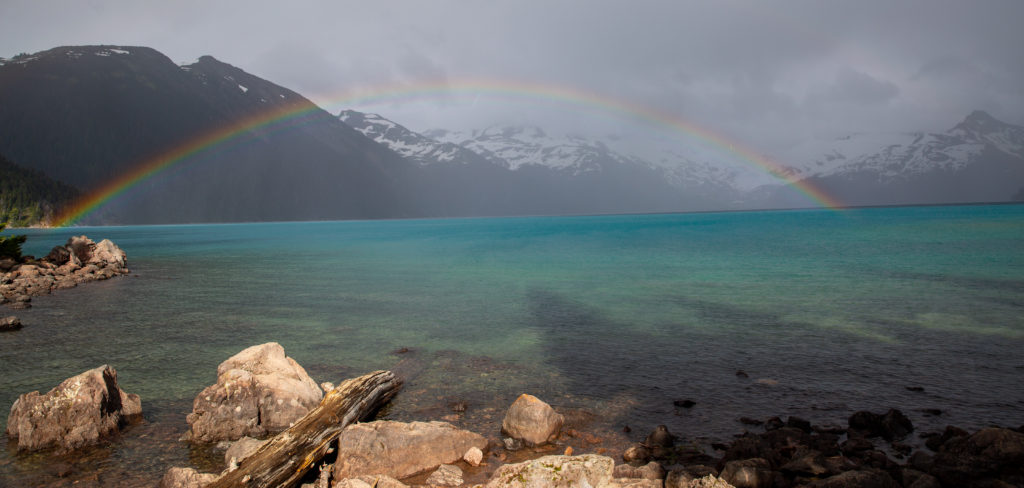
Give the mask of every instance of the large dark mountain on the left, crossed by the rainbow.
<path id="1" fill-rule="evenodd" d="M 205 147 L 92 223 L 417 216 L 410 164 L 301 95 L 203 56 L 75 46 L 0 59 L 0 153 L 85 192 L 165 153 Z M 261 117 L 290 115 L 279 124 Z"/>

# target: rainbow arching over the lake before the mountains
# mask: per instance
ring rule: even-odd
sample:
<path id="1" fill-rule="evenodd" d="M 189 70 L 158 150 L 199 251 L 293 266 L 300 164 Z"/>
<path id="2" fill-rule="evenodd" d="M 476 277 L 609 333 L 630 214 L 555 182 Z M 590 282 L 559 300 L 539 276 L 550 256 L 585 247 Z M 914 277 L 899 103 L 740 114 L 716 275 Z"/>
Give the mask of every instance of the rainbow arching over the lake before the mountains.
<path id="1" fill-rule="evenodd" d="M 821 207 L 828 209 L 842 209 L 844 207 L 836 198 L 829 196 L 811 183 L 787 177 L 784 167 L 738 141 L 657 108 L 577 88 L 551 84 L 495 80 L 441 81 L 417 83 L 415 85 L 378 87 L 360 92 L 345 92 L 318 98 L 326 100 L 325 105 L 343 106 L 386 101 L 398 102 L 402 100 L 430 99 L 451 95 L 550 101 L 585 110 L 596 110 L 615 117 L 639 120 L 647 124 L 683 133 L 690 137 L 695 137 L 716 147 L 718 150 L 733 154 L 746 164 L 760 168 L 771 176 L 785 182 Z M 304 117 L 317 114 L 318 110 L 321 110 L 321 107 L 317 104 L 300 97 L 297 101 L 279 104 L 254 116 L 236 121 L 230 125 L 184 140 L 171 149 L 141 162 L 131 171 L 90 191 L 57 216 L 54 219 L 54 225 L 57 227 L 72 225 L 142 181 L 194 157 L 212 151 L 214 148 L 227 143 L 241 143 L 247 139 L 247 136 L 252 136 L 254 132 L 292 127 L 295 124 L 301 123 Z"/>

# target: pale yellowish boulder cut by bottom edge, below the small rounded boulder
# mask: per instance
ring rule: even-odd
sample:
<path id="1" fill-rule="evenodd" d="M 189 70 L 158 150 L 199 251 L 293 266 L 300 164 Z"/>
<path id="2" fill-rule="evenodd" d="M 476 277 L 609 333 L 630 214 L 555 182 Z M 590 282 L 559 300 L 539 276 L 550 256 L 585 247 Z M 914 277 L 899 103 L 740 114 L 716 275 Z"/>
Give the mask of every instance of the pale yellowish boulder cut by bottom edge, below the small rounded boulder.
<path id="1" fill-rule="evenodd" d="M 612 483 L 614 465 L 612 458 L 597 454 L 543 456 L 499 468 L 484 487 L 598 488 Z"/>

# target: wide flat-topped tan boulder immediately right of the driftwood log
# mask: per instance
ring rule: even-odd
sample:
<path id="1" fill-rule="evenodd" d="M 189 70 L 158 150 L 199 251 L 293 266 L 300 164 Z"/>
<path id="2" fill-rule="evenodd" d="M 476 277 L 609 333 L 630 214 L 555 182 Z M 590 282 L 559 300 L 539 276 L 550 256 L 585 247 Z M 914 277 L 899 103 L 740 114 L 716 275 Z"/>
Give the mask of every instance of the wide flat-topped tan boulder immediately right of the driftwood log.
<path id="1" fill-rule="evenodd" d="M 456 462 L 472 447 L 482 451 L 486 446 L 483 436 L 443 422 L 354 424 L 338 437 L 333 476 L 402 479 Z"/>

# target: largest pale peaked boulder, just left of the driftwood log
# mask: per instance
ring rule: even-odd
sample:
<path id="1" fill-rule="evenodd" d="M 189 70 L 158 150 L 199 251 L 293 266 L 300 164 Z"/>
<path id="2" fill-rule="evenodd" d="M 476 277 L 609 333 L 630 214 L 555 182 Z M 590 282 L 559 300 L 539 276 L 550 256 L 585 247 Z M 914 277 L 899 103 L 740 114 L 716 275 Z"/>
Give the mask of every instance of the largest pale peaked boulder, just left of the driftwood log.
<path id="1" fill-rule="evenodd" d="M 253 346 L 217 367 L 217 383 L 193 402 L 186 420 L 198 442 L 263 437 L 288 429 L 324 392 L 278 343 Z"/>

